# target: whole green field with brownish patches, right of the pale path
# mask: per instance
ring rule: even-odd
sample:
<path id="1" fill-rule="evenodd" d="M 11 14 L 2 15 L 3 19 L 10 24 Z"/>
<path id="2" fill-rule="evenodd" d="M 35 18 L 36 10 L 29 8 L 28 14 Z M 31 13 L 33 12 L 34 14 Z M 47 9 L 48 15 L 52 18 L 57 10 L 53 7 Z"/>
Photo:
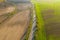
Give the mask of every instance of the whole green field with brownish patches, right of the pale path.
<path id="1" fill-rule="evenodd" d="M 59 26 L 60 26 L 60 25 L 56 25 L 56 27 L 54 26 L 55 24 L 60 23 L 60 8 L 59 8 L 60 3 L 59 2 L 56 2 L 56 3 L 33 2 L 33 4 L 34 4 L 35 10 L 36 10 L 37 28 L 38 28 L 35 33 L 35 40 L 60 40 L 60 36 L 56 36 L 57 35 L 56 33 L 59 33 L 60 31 L 54 32 L 55 29 L 56 29 L 56 31 L 58 31 L 57 28 L 59 28 Z M 52 11 L 48 11 L 47 14 L 50 15 L 52 13 L 51 15 L 53 17 L 44 19 L 44 17 L 47 18 L 49 16 L 47 14 L 42 14 L 42 10 L 45 11 L 47 9 L 52 10 Z M 50 12 L 50 14 L 49 14 L 49 12 Z M 46 16 L 43 17 L 43 15 L 46 15 L 47 17 Z M 48 28 L 48 26 L 45 26 L 45 24 L 47 24 L 47 25 L 49 24 L 50 28 Z M 53 33 L 51 32 L 47 36 L 45 28 L 47 28 L 47 33 L 50 31 L 52 31 Z M 50 31 L 48 31 L 48 30 L 50 30 Z M 58 34 L 58 35 L 60 35 L 60 34 Z"/>

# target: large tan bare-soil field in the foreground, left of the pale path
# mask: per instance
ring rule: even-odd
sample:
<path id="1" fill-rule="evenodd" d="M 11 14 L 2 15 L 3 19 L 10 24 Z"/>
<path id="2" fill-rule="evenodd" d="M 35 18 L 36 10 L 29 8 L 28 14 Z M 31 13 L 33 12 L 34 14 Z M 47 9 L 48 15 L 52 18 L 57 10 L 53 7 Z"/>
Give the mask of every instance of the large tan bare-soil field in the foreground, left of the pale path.
<path id="1" fill-rule="evenodd" d="M 29 9 L 13 15 L 0 25 L 0 40 L 20 40 L 28 28 L 29 19 Z"/>

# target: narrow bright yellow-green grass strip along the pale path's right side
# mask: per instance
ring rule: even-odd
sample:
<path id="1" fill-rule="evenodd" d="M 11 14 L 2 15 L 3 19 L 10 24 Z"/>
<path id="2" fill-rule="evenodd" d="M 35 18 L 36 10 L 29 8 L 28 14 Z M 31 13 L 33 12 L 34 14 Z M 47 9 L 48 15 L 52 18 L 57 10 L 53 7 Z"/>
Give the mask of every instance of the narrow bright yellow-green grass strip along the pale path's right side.
<path id="1" fill-rule="evenodd" d="M 37 31 L 35 32 L 35 40 L 46 40 L 46 33 L 44 28 L 44 21 L 40 11 L 40 4 L 38 2 L 32 2 L 35 6 Z"/>

